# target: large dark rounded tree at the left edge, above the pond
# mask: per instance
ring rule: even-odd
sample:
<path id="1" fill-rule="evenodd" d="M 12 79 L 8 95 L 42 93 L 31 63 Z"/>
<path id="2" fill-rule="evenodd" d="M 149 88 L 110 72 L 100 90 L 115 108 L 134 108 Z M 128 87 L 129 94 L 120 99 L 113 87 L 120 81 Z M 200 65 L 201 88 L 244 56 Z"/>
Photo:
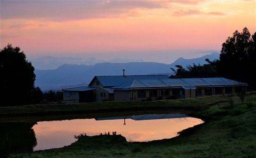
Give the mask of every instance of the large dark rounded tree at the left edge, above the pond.
<path id="1" fill-rule="evenodd" d="M 19 47 L 8 44 L 0 50 L 0 105 L 31 104 L 36 75 Z"/>

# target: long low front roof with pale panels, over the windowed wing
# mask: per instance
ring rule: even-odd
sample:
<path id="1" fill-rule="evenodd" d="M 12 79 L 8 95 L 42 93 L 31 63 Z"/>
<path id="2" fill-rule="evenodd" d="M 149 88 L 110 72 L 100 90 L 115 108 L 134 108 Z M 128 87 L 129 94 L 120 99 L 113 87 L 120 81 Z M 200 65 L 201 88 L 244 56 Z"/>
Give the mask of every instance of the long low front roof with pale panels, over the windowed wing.
<path id="1" fill-rule="evenodd" d="M 246 83 L 239 83 L 235 80 L 227 78 L 168 78 L 158 80 L 133 80 L 128 83 L 117 85 L 111 89 L 128 90 L 135 88 L 172 88 L 182 87 L 183 89 L 196 89 L 195 86 L 232 86 L 232 85 L 247 85 Z"/>

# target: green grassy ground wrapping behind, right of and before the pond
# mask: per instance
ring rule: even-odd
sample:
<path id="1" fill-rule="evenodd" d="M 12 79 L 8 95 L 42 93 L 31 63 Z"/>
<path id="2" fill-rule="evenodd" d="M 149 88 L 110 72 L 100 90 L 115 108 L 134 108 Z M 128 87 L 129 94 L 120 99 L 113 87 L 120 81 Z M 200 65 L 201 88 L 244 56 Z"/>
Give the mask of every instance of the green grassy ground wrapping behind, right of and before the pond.
<path id="1" fill-rule="evenodd" d="M 150 142 L 128 142 L 121 135 L 102 135 L 82 137 L 70 146 L 60 149 L 36 151 L 33 153 L 12 153 L 11 158 L 255 158 L 256 157 L 256 94 L 248 95 L 244 104 L 234 97 L 235 105 L 230 106 L 228 98 L 222 96 L 200 97 L 193 99 L 180 99 L 173 101 L 153 102 L 113 102 L 94 103 L 100 110 L 123 109 L 135 110 L 144 108 L 183 108 L 193 109 L 192 116 L 206 120 L 204 124 L 183 130 L 180 136 L 172 139 L 163 139 Z M 249 102 L 254 107 L 249 106 Z M 79 104 L 90 107 L 82 108 L 85 112 L 97 111 L 93 104 Z M 48 106 L 48 105 L 47 105 Z M 50 105 L 49 105 L 50 106 Z M 70 107 L 74 105 L 64 105 Z M 110 107 L 109 107 L 110 106 Z M 157 107 L 154 107 L 157 106 Z M 37 107 L 37 106 L 34 106 Z M 56 110 L 57 105 L 54 106 Z M 8 107 L 9 108 L 9 107 Z M 15 110 L 14 115 L 30 115 L 33 111 L 26 112 Z M 51 109 L 51 110 L 52 110 Z M 45 113 L 49 109 L 36 111 Z M 59 111 L 65 111 L 59 109 Z M 76 111 L 75 108 L 74 110 Z M 8 113 L 3 112 L 2 113 Z"/>

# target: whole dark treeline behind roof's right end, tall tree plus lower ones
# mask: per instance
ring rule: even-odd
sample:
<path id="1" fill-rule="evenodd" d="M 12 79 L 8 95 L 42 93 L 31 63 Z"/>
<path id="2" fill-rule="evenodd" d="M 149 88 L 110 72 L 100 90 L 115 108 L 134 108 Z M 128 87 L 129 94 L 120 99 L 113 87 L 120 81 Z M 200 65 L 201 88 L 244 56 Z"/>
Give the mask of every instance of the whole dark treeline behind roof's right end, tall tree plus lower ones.
<path id="1" fill-rule="evenodd" d="M 176 74 L 171 78 L 224 77 L 248 83 L 250 90 L 256 90 L 256 33 L 251 35 L 247 28 L 242 33 L 235 31 L 222 44 L 220 58 L 206 59 L 208 64 L 187 66 L 176 65 Z"/>

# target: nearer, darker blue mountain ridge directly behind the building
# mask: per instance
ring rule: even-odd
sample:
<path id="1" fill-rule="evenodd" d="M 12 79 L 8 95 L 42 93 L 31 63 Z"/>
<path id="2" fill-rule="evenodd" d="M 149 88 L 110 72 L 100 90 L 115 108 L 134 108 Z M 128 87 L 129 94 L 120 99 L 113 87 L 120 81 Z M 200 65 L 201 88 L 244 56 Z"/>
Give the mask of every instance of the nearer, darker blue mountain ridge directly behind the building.
<path id="1" fill-rule="evenodd" d="M 64 64 L 54 70 L 35 70 L 36 82 L 42 90 L 57 90 L 66 85 L 79 85 L 81 83 L 90 83 L 95 75 L 123 75 L 123 69 L 126 69 L 125 75 L 147 75 L 147 74 L 168 74 L 173 73 L 170 68 L 175 65 L 206 64 L 205 59 L 211 61 L 219 58 L 219 53 L 212 53 L 195 59 L 179 58 L 172 64 L 163 64 L 156 62 L 130 62 L 130 63 L 97 63 L 95 65 L 77 65 Z"/>

